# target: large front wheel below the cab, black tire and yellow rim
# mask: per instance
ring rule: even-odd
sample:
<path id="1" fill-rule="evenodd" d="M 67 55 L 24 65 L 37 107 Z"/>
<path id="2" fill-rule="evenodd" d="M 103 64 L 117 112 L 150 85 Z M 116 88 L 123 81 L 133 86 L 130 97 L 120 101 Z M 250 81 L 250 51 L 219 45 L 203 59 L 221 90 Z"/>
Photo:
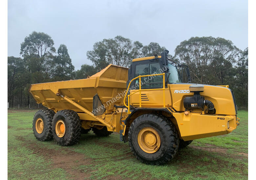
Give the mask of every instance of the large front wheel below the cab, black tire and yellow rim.
<path id="1" fill-rule="evenodd" d="M 137 117 L 129 128 L 128 140 L 137 159 L 151 165 L 170 161 L 179 148 L 175 125 L 166 117 L 155 114 Z"/>

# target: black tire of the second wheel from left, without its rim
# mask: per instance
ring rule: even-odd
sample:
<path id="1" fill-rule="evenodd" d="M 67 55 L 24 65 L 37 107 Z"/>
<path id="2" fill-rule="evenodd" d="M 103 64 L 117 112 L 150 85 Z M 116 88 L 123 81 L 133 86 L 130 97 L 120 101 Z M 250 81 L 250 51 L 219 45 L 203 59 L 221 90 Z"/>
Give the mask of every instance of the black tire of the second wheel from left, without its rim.
<path id="1" fill-rule="evenodd" d="M 58 120 L 65 124 L 65 134 L 59 137 L 55 132 L 55 125 Z M 81 136 L 81 120 L 77 113 L 72 110 L 58 111 L 52 122 L 53 139 L 60 146 L 70 146 L 76 144 Z"/>

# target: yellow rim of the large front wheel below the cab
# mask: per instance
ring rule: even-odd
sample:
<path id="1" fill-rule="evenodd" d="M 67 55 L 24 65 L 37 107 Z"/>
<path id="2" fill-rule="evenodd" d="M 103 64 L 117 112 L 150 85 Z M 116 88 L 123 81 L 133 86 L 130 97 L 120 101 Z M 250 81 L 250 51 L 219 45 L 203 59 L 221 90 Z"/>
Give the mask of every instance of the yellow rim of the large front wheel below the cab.
<path id="1" fill-rule="evenodd" d="M 146 153 L 155 153 L 159 150 L 161 139 L 158 132 L 150 127 L 143 128 L 138 134 L 139 147 Z"/>

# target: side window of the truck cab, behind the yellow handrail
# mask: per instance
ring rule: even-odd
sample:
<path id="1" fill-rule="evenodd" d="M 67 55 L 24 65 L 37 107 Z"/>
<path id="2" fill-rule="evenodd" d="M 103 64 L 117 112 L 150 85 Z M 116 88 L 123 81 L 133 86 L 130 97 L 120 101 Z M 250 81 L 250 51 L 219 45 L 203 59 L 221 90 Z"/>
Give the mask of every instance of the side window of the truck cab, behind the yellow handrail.
<path id="1" fill-rule="evenodd" d="M 160 64 L 150 63 L 150 64 L 139 64 L 135 68 L 135 77 L 139 75 L 149 75 L 149 74 L 160 74 Z M 161 88 L 163 84 L 162 76 L 149 76 L 141 77 L 141 88 Z M 135 80 L 135 87 L 139 89 L 139 78 Z"/>

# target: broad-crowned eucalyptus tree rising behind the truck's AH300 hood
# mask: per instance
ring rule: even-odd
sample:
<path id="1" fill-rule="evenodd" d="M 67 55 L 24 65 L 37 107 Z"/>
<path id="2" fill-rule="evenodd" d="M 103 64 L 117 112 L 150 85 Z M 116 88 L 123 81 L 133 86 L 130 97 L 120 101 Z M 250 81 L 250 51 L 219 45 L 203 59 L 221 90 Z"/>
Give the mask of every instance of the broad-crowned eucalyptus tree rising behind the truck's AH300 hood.
<path id="1" fill-rule="evenodd" d="M 222 85 L 234 77 L 239 49 L 224 38 L 191 37 L 176 47 L 175 56 L 189 66 L 193 82 Z"/>

